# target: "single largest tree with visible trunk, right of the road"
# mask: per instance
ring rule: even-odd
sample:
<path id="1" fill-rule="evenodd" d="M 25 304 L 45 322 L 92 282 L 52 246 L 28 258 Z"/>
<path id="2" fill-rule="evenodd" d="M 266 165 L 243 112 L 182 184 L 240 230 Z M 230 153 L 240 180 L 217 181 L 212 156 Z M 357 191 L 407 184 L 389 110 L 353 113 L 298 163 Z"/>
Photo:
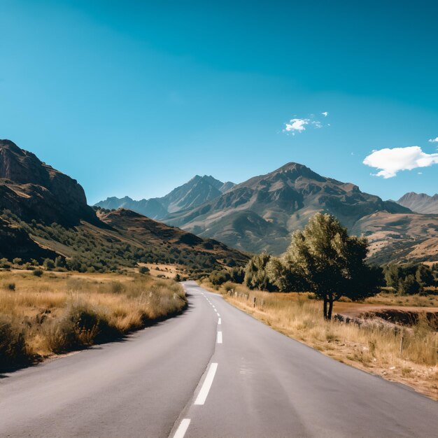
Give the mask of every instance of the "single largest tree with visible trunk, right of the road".
<path id="1" fill-rule="evenodd" d="M 348 236 L 337 218 L 316 213 L 304 230 L 292 234 L 286 259 L 301 273 L 308 290 L 323 299 L 324 318 L 332 318 L 341 297 L 365 299 L 379 292 L 381 271 L 365 264 L 365 237 Z"/>

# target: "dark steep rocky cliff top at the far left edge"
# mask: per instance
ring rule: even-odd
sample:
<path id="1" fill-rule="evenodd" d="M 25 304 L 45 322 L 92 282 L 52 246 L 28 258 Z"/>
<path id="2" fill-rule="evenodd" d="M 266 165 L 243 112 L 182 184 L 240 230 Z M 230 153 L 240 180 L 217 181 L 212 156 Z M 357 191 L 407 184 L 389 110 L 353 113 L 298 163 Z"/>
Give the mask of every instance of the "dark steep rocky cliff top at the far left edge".
<path id="1" fill-rule="evenodd" d="M 75 225 L 96 222 L 78 182 L 9 140 L 0 140 L 0 210 L 26 220 Z"/>

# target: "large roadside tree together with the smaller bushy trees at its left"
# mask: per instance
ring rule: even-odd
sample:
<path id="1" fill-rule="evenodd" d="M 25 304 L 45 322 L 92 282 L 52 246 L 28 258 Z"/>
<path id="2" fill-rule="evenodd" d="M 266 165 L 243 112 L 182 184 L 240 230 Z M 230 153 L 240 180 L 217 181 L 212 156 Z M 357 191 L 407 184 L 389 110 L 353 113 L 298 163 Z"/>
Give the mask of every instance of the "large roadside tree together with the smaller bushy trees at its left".
<path id="1" fill-rule="evenodd" d="M 292 234 L 283 259 L 255 255 L 245 269 L 250 289 L 311 291 L 323 300 L 324 318 L 332 318 L 341 297 L 364 299 L 379 292 L 381 270 L 365 264 L 367 240 L 348 236 L 339 220 L 316 213 L 303 231 Z"/>

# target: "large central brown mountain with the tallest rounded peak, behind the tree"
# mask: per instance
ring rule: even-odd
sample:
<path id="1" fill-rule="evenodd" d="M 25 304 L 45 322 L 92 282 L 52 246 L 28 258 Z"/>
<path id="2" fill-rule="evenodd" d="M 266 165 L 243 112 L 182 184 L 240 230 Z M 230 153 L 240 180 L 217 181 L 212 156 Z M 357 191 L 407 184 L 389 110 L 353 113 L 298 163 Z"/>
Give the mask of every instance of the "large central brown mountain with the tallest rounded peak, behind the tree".
<path id="1" fill-rule="evenodd" d="M 281 254 L 290 233 L 317 211 L 332 213 L 349 229 L 376 211 L 410 213 L 395 202 L 361 192 L 357 185 L 288 163 L 215 197 L 195 209 L 176 212 L 164 222 L 250 252 Z"/>

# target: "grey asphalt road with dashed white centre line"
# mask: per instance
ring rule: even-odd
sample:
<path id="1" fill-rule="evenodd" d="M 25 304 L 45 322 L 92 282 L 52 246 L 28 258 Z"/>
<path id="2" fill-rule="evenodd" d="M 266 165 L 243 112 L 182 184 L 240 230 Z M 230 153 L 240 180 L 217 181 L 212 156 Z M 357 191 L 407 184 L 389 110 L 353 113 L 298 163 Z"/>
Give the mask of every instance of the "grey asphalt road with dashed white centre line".
<path id="1" fill-rule="evenodd" d="M 0 437 L 438 437 L 438 403 L 196 283 L 188 311 L 0 379 Z"/>

